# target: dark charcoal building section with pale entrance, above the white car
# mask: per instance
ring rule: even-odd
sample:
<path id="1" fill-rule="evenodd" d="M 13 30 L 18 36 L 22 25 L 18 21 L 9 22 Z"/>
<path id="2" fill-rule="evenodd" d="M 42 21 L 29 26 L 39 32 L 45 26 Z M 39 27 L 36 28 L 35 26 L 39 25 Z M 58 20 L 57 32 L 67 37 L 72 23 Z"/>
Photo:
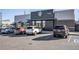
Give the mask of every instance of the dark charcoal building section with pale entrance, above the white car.
<path id="1" fill-rule="evenodd" d="M 32 25 L 36 25 L 43 29 L 50 29 L 50 27 L 53 27 L 53 24 L 47 25 L 48 23 L 53 23 L 53 19 L 53 9 L 31 12 Z"/>

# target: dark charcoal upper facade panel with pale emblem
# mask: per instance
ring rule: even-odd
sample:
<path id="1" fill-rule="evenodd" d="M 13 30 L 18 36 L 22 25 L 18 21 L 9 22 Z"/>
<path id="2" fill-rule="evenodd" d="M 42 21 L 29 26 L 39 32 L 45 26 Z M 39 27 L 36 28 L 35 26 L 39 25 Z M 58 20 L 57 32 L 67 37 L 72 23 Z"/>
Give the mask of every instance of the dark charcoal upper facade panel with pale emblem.
<path id="1" fill-rule="evenodd" d="M 53 9 L 31 12 L 32 20 L 47 20 L 53 18 L 54 18 Z"/>

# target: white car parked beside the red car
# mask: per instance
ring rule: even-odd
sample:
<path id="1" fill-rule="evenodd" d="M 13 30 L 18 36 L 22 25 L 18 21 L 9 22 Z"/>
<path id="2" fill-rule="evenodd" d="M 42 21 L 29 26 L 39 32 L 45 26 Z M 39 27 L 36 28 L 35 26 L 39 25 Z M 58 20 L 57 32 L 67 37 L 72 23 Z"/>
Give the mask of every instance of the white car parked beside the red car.
<path id="1" fill-rule="evenodd" d="M 36 27 L 36 26 L 29 26 L 26 29 L 26 34 L 34 34 L 36 35 L 37 33 L 41 33 L 41 29 Z"/>

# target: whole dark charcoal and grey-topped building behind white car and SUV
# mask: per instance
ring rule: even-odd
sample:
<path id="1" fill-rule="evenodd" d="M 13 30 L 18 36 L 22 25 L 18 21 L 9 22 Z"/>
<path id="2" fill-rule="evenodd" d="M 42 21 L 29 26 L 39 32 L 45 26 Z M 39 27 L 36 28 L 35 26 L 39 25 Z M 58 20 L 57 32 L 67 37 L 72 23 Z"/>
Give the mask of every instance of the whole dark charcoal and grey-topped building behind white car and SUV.
<path id="1" fill-rule="evenodd" d="M 75 31 L 74 10 L 54 11 L 53 9 L 31 12 L 32 25 L 39 21 L 42 28 L 53 30 L 55 25 L 67 25 L 70 31 Z M 45 25 L 45 26 L 43 26 Z"/>

